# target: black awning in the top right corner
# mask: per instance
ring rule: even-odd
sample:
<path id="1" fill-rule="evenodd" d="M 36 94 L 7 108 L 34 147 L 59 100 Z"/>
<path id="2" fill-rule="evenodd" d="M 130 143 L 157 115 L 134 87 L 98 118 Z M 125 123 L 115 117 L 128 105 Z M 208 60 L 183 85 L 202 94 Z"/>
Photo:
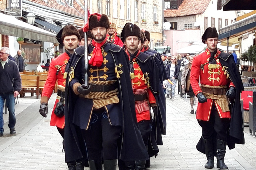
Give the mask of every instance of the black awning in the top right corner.
<path id="1" fill-rule="evenodd" d="M 256 9 L 255 0 L 218 0 L 217 10 L 237 11 L 237 10 L 254 10 Z"/>

